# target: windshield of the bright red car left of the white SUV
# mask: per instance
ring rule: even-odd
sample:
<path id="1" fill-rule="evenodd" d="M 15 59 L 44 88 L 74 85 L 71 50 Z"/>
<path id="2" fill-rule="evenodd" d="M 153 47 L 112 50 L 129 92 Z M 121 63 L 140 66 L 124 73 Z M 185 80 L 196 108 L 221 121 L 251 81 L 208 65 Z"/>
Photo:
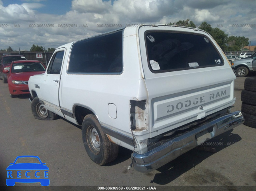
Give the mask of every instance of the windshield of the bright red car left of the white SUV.
<path id="1" fill-rule="evenodd" d="M 12 73 L 45 71 L 40 62 L 22 62 L 12 64 Z"/>

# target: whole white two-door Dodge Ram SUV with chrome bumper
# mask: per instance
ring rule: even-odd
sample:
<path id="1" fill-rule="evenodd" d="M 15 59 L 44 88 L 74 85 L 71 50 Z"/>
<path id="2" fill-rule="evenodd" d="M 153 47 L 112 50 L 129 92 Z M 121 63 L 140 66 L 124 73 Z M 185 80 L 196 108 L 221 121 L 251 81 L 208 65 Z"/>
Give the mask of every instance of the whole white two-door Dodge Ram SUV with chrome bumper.
<path id="1" fill-rule="evenodd" d="M 244 122 L 230 112 L 235 78 L 208 33 L 144 24 L 58 47 L 28 85 L 34 117 L 82 126 L 95 163 L 122 146 L 146 173 Z"/>

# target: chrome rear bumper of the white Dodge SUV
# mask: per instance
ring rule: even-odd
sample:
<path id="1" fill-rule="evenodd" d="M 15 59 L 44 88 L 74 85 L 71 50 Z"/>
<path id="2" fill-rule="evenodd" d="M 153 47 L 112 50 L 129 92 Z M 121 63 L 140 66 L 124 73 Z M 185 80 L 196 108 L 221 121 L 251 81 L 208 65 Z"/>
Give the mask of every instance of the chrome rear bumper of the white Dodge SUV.
<path id="1" fill-rule="evenodd" d="M 192 148 L 243 124 L 243 122 L 244 117 L 240 111 L 232 112 L 210 120 L 206 124 L 165 142 L 144 154 L 133 153 L 134 169 L 142 173 L 148 173 L 154 169 L 158 169 Z"/>

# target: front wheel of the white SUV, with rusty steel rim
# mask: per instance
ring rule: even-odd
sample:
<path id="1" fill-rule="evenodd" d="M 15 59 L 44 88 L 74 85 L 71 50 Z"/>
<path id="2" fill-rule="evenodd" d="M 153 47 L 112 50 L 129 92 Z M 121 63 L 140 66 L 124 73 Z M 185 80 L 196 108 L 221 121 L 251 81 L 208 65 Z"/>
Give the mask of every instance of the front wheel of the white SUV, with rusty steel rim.
<path id="1" fill-rule="evenodd" d="M 35 119 L 39 120 L 54 120 L 56 114 L 47 110 L 43 104 L 39 102 L 39 98 L 35 97 L 31 103 L 32 114 Z"/>

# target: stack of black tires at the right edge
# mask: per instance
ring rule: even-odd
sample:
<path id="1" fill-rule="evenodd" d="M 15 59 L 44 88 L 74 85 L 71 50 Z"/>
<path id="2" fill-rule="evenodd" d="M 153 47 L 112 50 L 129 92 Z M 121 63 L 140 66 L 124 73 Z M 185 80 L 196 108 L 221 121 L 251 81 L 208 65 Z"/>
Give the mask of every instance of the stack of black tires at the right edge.
<path id="1" fill-rule="evenodd" d="M 256 128 L 256 77 L 247 77 L 241 93 L 244 125 Z"/>

